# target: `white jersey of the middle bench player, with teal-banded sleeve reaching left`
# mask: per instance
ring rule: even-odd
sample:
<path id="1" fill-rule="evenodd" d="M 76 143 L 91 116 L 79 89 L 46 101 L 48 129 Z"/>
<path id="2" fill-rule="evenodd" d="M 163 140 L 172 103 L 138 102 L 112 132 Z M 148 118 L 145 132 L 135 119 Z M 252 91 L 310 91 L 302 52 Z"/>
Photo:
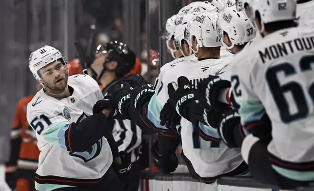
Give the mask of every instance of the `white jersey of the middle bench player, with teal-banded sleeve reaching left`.
<path id="1" fill-rule="evenodd" d="M 230 62 L 229 58 L 197 60 L 174 60 L 161 68 L 158 76 L 156 93 L 152 97 L 148 106 L 149 119 L 160 129 L 159 114 L 164 104 L 169 99 L 168 83 L 177 82 L 179 76 L 186 76 L 190 79 L 193 88 L 197 87 L 198 82 L 207 78 L 224 65 Z M 203 131 L 219 138 L 216 129 L 199 124 Z M 182 138 L 182 149 L 184 155 L 191 161 L 196 173 L 203 178 L 215 177 L 217 175 L 231 172 L 243 162 L 239 149 L 229 149 L 221 141 L 205 141 L 198 132 L 194 132 L 192 123 L 184 118 L 181 120 L 181 128 L 178 133 Z"/>

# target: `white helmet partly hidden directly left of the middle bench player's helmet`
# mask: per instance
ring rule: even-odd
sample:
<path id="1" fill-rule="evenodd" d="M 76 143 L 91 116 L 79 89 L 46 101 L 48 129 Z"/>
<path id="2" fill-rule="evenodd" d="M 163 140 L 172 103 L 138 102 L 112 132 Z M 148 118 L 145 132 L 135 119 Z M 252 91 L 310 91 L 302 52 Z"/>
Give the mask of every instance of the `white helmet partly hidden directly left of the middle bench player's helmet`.
<path id="1" fill-rule="evenodd" d="M 174 41 L 174 46 L 177 51 L 181 51 L 182 55 L 184 57 L 192 55 L 192 48 L 190 47 L 190 53 L 189 55 L 185 55 L 182 51 L 182 40 L 184 39 L 184 30 L 186 25 L 189 23 L 189 21 L 194 17 L 195 14 L 187 14 L 184 16 L 181 16 L 177 19 L 176 23 L 176 28 L 174 30 L 174 36 L 175 36 L 175 41 Z"/>

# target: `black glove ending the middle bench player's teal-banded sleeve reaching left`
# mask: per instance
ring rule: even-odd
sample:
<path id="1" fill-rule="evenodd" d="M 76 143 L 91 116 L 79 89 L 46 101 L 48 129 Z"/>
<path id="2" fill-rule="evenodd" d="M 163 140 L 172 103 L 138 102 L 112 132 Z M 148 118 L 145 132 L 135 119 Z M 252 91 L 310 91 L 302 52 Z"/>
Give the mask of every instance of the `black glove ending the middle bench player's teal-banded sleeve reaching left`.
<path id="1" fill-rule="evenodd" d="M 135 87 L 131 93 L 131 104 L 139 114 L 142 114 L 144 104 L 149 102 L 154 94 L 155 90 L 153 90 L 152 84 L 143 84 Z"/>

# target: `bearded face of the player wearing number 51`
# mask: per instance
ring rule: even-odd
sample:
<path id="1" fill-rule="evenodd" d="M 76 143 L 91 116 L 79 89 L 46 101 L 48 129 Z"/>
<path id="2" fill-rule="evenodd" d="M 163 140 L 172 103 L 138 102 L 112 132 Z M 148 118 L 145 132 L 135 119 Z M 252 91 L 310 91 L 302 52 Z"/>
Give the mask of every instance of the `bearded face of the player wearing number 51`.
<path id="1" fill-rule="evenodd" d="M 68 74 L 61 61 L 56 61 L 39 70 L 41 83 L 49 92 L 63 92 L 68 84 Z"/>

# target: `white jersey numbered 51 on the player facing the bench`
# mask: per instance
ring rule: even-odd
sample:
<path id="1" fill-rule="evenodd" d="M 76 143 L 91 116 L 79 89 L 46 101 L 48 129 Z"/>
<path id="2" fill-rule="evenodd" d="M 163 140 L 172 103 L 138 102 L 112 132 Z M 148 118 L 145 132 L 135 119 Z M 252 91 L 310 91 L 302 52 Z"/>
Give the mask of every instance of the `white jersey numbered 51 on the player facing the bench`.
<path id="1" fill-rule="evenodd" d="M 72 122 L 92 115 L 93 105 L 103 99 L 98 83 L 90 76 L 70 76 L 68 85 L 74 89 L 72 96 L 57 99 L 41 89 L 27 105 L 27 120 L 37 132 L 40 150 L 35 178 L 39 191 L 99 182 L 113 161 L 104 137 L 89 151 L 67 151 L 65 131 Z"/>

